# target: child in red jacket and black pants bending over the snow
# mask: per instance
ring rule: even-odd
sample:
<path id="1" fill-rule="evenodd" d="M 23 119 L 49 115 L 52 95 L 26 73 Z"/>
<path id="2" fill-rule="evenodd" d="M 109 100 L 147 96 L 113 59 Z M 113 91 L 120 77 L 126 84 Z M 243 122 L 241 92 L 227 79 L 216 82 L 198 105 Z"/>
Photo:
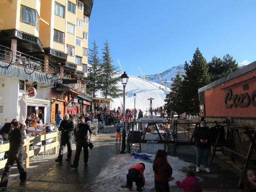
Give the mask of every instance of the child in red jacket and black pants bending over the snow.
<path id="1" fill-rule="evenodd" d="M 135 182 L 137 186 L 136 191 L 142 191 L 142 186 L 145 184 L 144 177 L 145 164 L 143 162 L 137 163 L 128 168 L 128 174 L 126 175 L 126 187 L 131 189 L 132 182 Z"/>

